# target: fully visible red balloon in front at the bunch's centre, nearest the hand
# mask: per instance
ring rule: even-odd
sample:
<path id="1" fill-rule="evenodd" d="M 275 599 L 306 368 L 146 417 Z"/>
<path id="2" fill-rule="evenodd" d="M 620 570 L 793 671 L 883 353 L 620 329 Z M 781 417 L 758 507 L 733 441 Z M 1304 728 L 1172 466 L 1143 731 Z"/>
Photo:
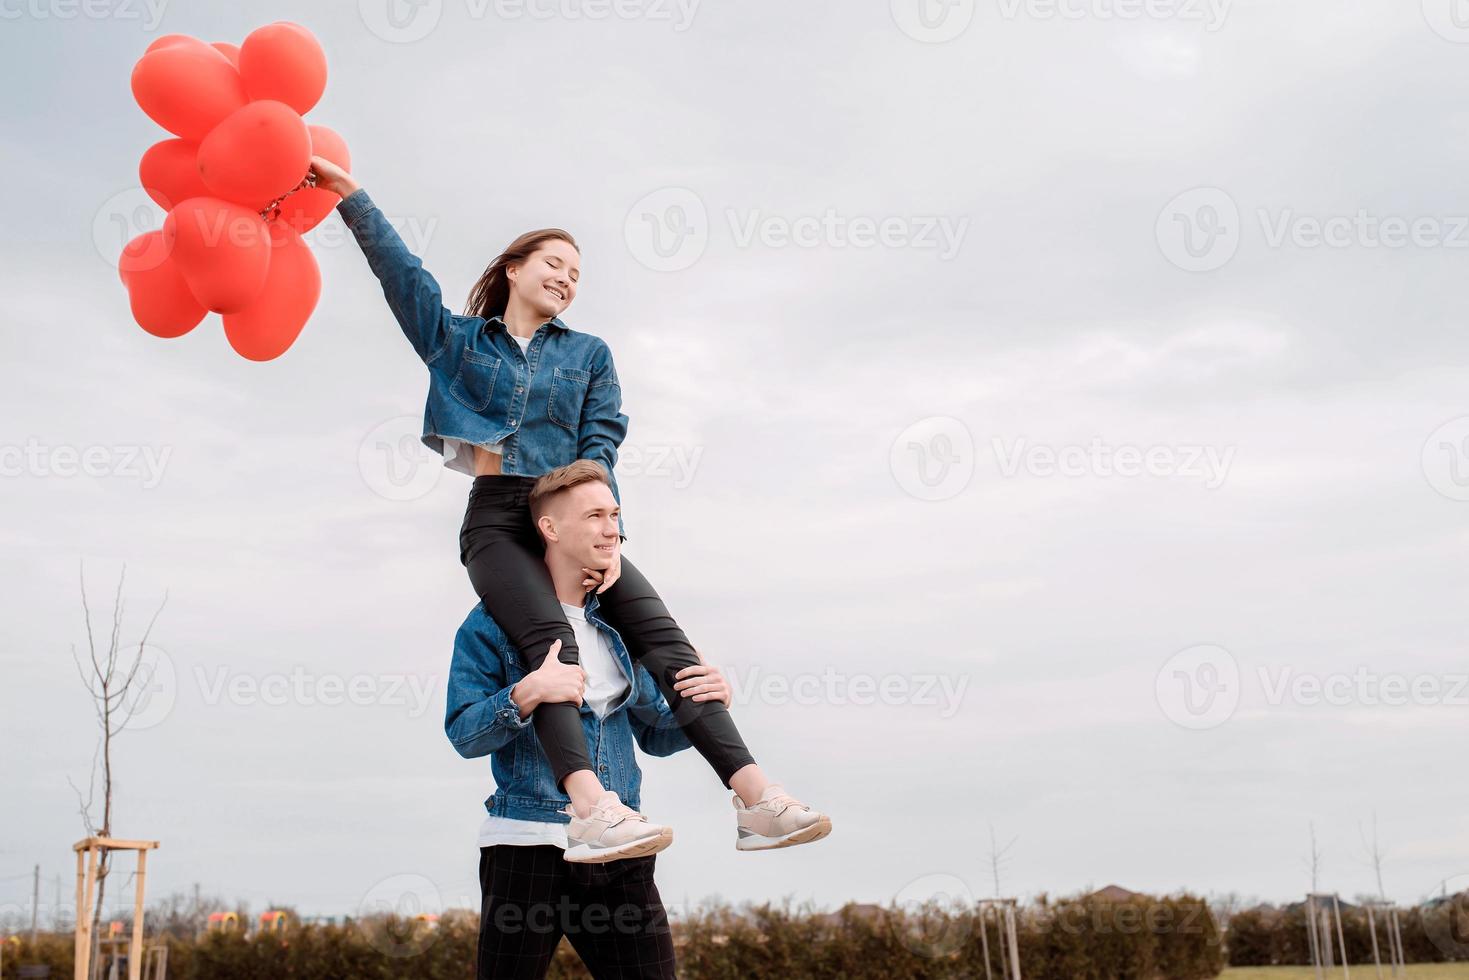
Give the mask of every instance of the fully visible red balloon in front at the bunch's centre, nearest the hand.
<path id="1" fill-rule="evenodd" d="M 256 210 L 297 187 L 311 169 L 311 134 L 281 101 L 237 109 L 198 144 L 198 173 L 213 197 Z"/>

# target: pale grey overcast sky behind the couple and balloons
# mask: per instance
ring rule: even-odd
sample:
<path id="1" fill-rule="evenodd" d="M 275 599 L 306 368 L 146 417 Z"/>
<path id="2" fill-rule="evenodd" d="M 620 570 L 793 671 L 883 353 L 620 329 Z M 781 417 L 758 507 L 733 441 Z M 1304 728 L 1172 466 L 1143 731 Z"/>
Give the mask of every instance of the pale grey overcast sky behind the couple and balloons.
<path id="1" fill-rule="evenodd" d="M 395 4 L 389 7 L 388 4 Z M 1450 0 L 3 4 L 0 907 L 71 889 L 71 660 L 167 595 L 116 743 L 148 890 L 476 905 L 488 760 L 442 733 L 469 482 L 339 217 L 284 357 L 162 341 L 115 259 L 162 213 L 156 37 L 322 41 L 307 116 L 448 304 L 570 229 L 638 561 L 833 815 L 737 854 L 643 758 L 670 905 L 1112 882 L 1469 884 L 1469 28 Z M 79 460 L 88 460 L 82 472 Z M 125 864 L 128 864 L 125 861 Z M 403 898 L 407 896 L 407 898 Z"/>

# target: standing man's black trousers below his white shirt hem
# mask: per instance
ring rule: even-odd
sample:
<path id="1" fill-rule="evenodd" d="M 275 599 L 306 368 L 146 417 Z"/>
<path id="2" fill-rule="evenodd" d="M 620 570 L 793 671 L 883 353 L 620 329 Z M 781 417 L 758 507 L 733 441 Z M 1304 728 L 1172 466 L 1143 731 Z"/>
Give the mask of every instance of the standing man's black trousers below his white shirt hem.
<path id="1" fill-rule="evenodd" d="M 480 848 L 474 976 L 539 980 L 566 936 L 595 980 L 674 977 L 655 860 L 571 864 L 549 843 Z"/>

